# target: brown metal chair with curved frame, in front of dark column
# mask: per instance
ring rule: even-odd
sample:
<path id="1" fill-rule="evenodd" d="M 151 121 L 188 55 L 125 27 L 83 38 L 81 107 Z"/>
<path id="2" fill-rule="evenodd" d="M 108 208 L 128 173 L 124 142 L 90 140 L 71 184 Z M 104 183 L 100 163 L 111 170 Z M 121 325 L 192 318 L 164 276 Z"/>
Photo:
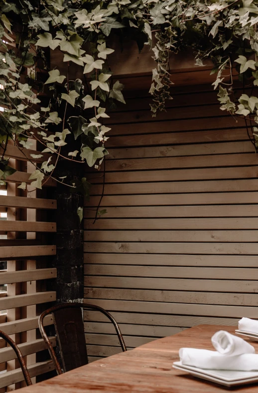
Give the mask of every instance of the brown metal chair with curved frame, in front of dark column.
<path id="1" fill-rule="evenodd" d="M 63 369 L 64 372 L 70 371 L 76 369 L 77 367 L 88 364 L 82 308 L 100 311 L 104 315 L 106 315 L 115 326 L 123 352 L 127 350 L 124 338 L 121 334 L 120 328 L 116 320 L 108 311 L 104 310 L 104 308 L 87 303 L 58 304 L 42 312 L 38 320 L 38 326 L 41 336 L 47 345 L 51 359 L 54 363 L 58 375 L 62 374 L 62 369 L 44 329 L 44 318 L 46 315 L 52 313 L 56 329 L 56 336 L 60 348 L 60 355 L 63 363 Z"/>

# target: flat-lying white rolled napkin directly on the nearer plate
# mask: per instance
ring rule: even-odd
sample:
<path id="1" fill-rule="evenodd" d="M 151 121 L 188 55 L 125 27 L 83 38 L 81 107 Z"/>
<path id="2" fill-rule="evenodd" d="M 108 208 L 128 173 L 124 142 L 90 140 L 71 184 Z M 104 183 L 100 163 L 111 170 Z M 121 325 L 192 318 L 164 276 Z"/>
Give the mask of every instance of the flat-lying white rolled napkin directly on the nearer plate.
<path id="1" fill-rule="evenodd" d="M 258 371 L 258 354 L 228 356 L 207 349 L 181 348 L 179 357 L 182 365 L 200 369 Z"/>

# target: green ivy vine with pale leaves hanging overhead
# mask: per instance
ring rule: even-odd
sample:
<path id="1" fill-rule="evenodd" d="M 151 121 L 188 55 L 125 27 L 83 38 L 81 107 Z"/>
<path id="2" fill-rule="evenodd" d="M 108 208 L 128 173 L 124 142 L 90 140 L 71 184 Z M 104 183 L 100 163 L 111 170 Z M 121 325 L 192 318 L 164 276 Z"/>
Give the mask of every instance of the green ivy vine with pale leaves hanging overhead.
<path id="1" fill-rule="evenodd" d="M 55 167 L 62 157 L 100 169 L 108 154 L 105 119 L 116 102 L 126 104 L 109 66 L 114 35 L 135 40 L 139 51 L 144 45 L 152 50 L 153 116 L 172 99 L 171 54 L 191 49 L 200 67 L 212 60 L 221 110 L 247 119 L 257 146 L 257 23 L 258 0 L 0 0 L 0 184 L 15 172 L 6 155 L 9 140 L 34 164 L 32 186 L 52 177 L 89 193 L 85 178 L 67 182 L 55 176 Z M 60 69 L 50 69 L 56 55 Z M 70 79 L 71 68 L 81 79 Z M 236 79 L 243 86 L 239 98 Z M 69 148 L 71 136 L 78 150 Z M 50 153 L 40 164 L 42 154 L 29 150 L 33 139 Z"/>

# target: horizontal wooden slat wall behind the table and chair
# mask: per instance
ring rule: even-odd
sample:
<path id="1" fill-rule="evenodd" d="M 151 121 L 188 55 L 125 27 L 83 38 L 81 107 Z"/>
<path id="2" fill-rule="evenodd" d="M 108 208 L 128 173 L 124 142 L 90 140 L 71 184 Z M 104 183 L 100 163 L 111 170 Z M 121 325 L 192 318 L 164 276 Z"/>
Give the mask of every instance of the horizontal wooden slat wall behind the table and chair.
<path id="1" fill-rule="evenodd" d="M 237 94 L 241 94 L 239 91 Z M 133 348 L 200 323 L 258 318 L 258 156 L 210 87 L 175 90 L 151 118 L 144 94 L 119 106 L 85 207 L 85 302 L 111 311 Z M 120 352 L 85 311 L 91 360 Z"/>

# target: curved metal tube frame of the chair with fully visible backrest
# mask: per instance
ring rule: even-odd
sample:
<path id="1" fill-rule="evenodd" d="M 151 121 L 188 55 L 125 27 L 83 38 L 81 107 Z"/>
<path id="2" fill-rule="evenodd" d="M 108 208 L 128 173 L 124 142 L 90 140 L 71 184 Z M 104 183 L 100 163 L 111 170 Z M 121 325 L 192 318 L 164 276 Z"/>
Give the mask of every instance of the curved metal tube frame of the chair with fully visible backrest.
<path id="1" fill-rule="evenodd" d="M 53 349 L 53 347 L 52 347 L 52 345 L 50 343 L 50 340 L 49 340 L 49 338 L 48 338 L 48 336 L 46 334 L 46 331 L 44 329 L 43 323 L 44 323 L 44 318 L 45 318 L 46 315 L 51 314 L 52 312 L 60 310 L 60 309 L 63 309 L 63 308 L 81 308 L 81 309 L 83 308 L 83 309 L 91 309 L 91 310 L 96 310 L 96 311 L 102 312 L 113 323 L 113 325 L 114 325 L 114 327 L 116 329 L 116 332 L 117 332 L 117 335 L 118 335 L 118 338 L 119 338 L 119 342 L 120 342 L 120 345 L 121 345 L 121 348 L 122 348 L 123 352 L 127 351 L 127 347 L 126 347 L 124 338 L 122 336 L 122 333 L 121 333 L 121 330 L 120 330 L 120 327 L 119 327 L 117 321 L 104 308 L 96 306 L 94 304 L 88 304 L 88 303 L 83 303 L 83 304 L 82 303 L 62 303 L 62 304 L 58 304 L 56 306 L 50 307 L 47 310 L 43 311 L 41 313 L 41 315 L 39 316 L 39 319 L 38 319 L 38 327 L 39 327 L 41 336 L 42 336 L 43 340 L 45 341 L 45 343 L 47 345 L 48 351 L 50 353 L 51 359 L 52 359 L 52 361 L 54 363 L 54 366 L 55 366 L 55 369 L 56 369 L 56 372 L 57 372 L 58 375 L 62 374 L 62 369 L 61 369 L 61 366 L 60 366 L 60 364 L 59 364 L 59 362 L 57 360 L 55 351 L 54 351 L 54 349 Z M 86 345 L 86 343 L 85 343 L 85 345 Z"/>

